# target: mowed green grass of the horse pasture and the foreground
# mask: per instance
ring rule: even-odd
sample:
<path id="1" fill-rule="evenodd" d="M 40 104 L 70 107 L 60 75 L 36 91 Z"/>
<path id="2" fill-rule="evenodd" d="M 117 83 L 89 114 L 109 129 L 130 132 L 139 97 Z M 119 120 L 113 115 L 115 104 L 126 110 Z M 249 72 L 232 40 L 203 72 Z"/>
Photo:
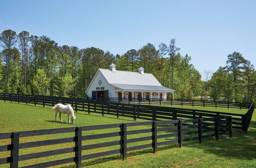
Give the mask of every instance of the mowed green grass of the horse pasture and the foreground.
<path id="1" fill-rule="evenodd" d="M 41 107 L 34 105 L 17 104 L 10 102 L 0 102 L 0 133 L 52 129 L 70 126 L 86 126 L 112 123 L 133 122 L 130 118 L 115 118 L 115 116 L 102 117 L 100 115 L 88 115 L 86 112 L 75 113 L 77 120 L 75 124 L 66 124 L 54 122 L 54 111 L 50 107 Z M 178 106 L 180 107 L 180 106 Z M 188 106 L 183 106 L 188 107 Z M 204 109 L 204 108 L 202 108 Z M 213 108 L 215 109 L 215 108 Z M 208 110 L 208 108 L 205 108 Z M 225 112 L 229 110 L 224 109 Z M 232 111 L 233 112 L 233 111 Z M 242 111 L 241 111 L 242 112 Z M 243 110 L 242 113 L 246 111 Z M 67 116 L 63 115 L 62 119 L 67 121 Z M 57 117 L 57 121 L 59 121 Z M 142 120 L 139 120 L 142 121 Z M 137 129 L 138 127 L 136 127 Z M 147 126 L 140 126 L 139 129 L 146 129 Z M 135 128 L 134 128 L 135 129 Z M 106 132 L 117 132 L 119 129 L 105 129 L 83 132 L 86 135 Z M 21 143 L 31 142 L 44 139 L 57 139 L 74 136 L 74 133 L 62 133 L 48 136 L 35 136 L 21 138 Z M 130 135 L 128 138 L 135 138 L 138 135 Z M 141 134 L 141 136 L 150 136 L 150 133 Z M 101 140 L 88 140 L 83 145 L 109 142 L 119 140 L 118 137 L 104 138 Z M 147 144 L 147 142 L 133 143 L 133 145 Z M 0 145 L 10 144 L 10 139 L 0 140 Z M 40 151 L 61 149 L 64 147 L 74 146 L 74 143 L 49 145 L 22 149 L 20 154 L 27 154 Z M 129 145 L 128 145 L 129 146 Z M 214 138 L 204 139 L 202 144 L 198 140 L 183 143 L 183 147 L 178 144 L 160 146 L 157 153 L 152 153 L 152 149 L 138 150 L 128 152 L 127 160 L 121 160 L 119 155 L 101 157 L 98 159 L 84 160 L 84 167 L 255 167 L 256 166 L 256 117 L 250 125 L 248 133 L 240 130 L 233 130 L 233 137 L 220 136 L 219 140 Z M 118 149 L 119 146 L 102 147 L 101 149 L 83 151 L 83 154 L 96 153 L 101 151 Z M 9 156 L 10 152 L 0 152 L 0 158 Z M 25 160 L 19 163 L 19 166 L 48 162 L 50 160 L 74 157 L 74 153 L 61 154 L 45 158 Z M 9 164 L 0 165 L 8 167 Z M 56 167 L 75 167 L 75 164 L 60 165 Z"/>

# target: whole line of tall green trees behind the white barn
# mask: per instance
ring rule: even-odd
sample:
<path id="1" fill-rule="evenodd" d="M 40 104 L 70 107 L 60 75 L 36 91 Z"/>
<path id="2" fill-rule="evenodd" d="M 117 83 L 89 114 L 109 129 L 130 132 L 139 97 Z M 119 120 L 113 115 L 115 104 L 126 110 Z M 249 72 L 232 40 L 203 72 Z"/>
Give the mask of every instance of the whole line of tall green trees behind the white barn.
<path id="1" fill-rule="evenodd" d="M 117 70 L 125 71 L 137 71 L 142 66 L 163 86 L 174 89 L 175 98 L 241 102 L 255 99 L 254 66 L 239 52 L 228 55 L 227 66 L 203 81 L 191 57 L 181 56 L 175 39 L 169 44 L 156 47 L 148 43 L 113 55 L 94 47 L 60 46 L 47 36 L 38 37 L 27 31 L 17 34 L 4 30 L 0 45 L 1 92 L 86 97 L 85 91 L 97 69 L 108 69 L 114 63 Z"/>

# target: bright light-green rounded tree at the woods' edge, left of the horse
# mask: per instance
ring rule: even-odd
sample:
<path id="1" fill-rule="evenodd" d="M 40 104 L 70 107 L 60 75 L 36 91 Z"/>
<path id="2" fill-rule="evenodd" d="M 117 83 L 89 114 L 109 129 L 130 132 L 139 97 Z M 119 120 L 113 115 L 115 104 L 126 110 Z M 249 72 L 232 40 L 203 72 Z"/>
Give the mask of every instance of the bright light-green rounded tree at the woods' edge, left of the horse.
<path id="1" fill-rule="evenodd" d="M 36 75 L 32 80 L 32 86 L 37 95 L 49 95 L 49 91 L 47 90 L 50 84 L 49 79 L 46 76 L 46 73 L 43 69 L 38 69 L 36 71 Z"/>

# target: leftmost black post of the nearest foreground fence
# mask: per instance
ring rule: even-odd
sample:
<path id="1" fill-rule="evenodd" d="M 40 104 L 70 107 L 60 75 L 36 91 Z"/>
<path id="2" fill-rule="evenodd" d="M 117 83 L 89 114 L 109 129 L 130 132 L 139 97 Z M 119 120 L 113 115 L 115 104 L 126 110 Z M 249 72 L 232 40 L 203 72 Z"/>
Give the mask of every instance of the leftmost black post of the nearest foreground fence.
<path id="1" fill-rule="evenodd" d="M 11 138 L 11 168 L 18 167 L 18 150 L 19 150 L 19 132 L 13 132 Z"/>

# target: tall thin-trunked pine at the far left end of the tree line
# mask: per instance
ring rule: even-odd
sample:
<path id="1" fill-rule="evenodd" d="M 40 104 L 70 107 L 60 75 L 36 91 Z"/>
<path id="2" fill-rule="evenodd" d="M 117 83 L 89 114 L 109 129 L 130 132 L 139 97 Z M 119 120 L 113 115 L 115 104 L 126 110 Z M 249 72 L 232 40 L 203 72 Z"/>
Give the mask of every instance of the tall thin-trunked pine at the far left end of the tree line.
<path id="1" fill-rule="evenodd" d="M 17 42 L 16 32 L 13 30 L 4 30 L 0 35 L 0 45 L 4 48 L 2 55 L 6 64 L 6 85 L 9 86 L 10 62 L 12 57 L 11 49 Z"/>

